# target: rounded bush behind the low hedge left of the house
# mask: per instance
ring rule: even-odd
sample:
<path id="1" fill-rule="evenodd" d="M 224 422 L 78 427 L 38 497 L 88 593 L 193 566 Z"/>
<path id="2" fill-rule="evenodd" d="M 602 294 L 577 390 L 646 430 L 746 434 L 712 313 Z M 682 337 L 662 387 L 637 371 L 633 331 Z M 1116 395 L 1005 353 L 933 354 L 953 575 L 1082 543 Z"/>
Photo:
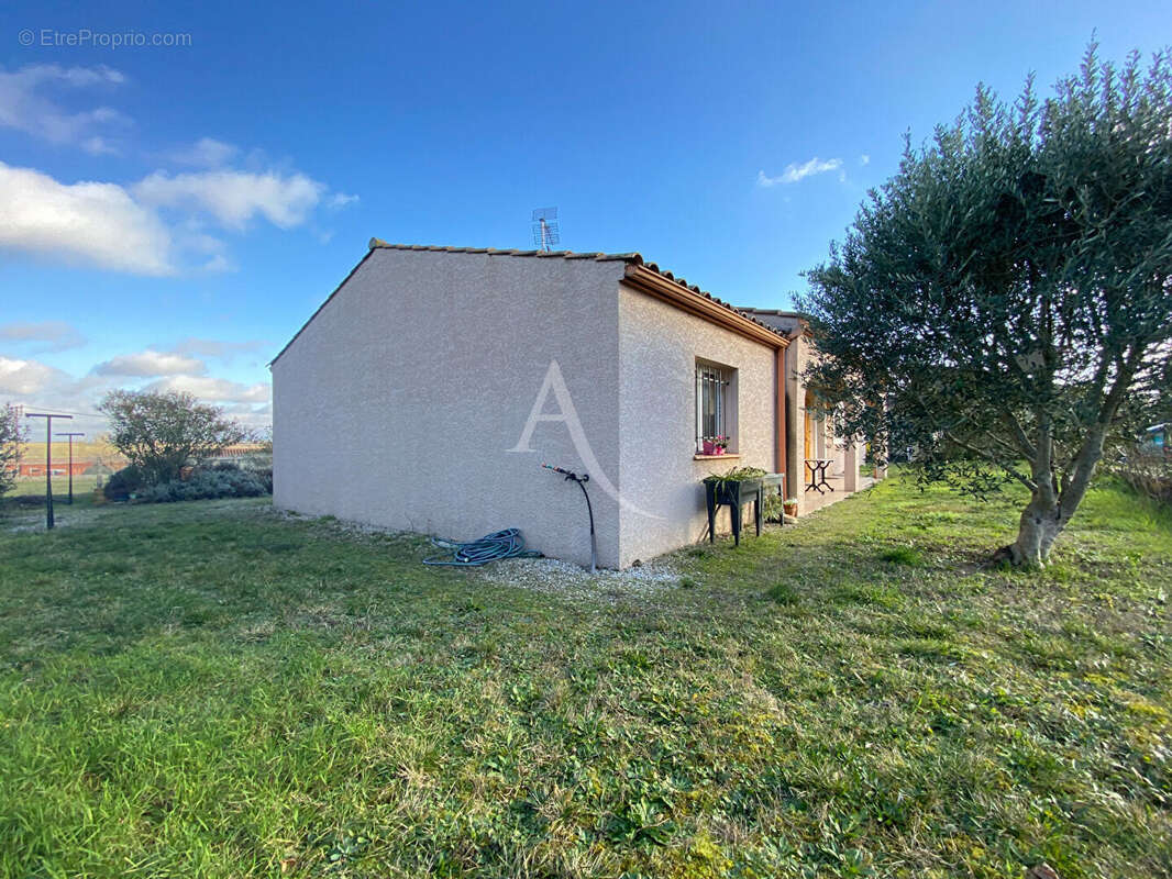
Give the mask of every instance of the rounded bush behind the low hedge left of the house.
<path id="1" fill-rule="evenodd" d="M 109 418 L 110 442 L 152 485 L 178 479 L 189 463 L 248 436 L 223 409 L 191 394 L 114 390 L 97 409 Z"/>

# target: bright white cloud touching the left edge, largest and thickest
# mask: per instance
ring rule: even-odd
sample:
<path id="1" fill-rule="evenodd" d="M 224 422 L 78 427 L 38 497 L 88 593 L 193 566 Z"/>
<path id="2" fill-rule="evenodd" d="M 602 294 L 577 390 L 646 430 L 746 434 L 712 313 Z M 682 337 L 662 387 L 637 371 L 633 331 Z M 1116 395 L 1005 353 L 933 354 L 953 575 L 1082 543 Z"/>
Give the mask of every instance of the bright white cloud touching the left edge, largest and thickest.
<path id="1" fill-rule="evenodd" d="M 115 183 L 59 183 L 0 162 L 0 247 L 132 274 L 172 274 L 171 234 Z"/>

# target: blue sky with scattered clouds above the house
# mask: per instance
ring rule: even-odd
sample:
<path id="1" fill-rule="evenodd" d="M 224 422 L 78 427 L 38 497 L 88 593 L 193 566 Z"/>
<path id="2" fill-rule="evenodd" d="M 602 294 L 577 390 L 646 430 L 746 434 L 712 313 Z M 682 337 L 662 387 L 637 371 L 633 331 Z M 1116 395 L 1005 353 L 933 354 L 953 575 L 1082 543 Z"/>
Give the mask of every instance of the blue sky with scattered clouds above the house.
<path id="1" fill-rule="evenodd" d="M 0 9 L 0 403 L 91 434 L 114 388 L 267 424 L 372 237 L 531 248 L 557 206 L 563 248 L 788 307 L 905 132 L 1172 42 L 1166 2 L 91 7 Z"/>

